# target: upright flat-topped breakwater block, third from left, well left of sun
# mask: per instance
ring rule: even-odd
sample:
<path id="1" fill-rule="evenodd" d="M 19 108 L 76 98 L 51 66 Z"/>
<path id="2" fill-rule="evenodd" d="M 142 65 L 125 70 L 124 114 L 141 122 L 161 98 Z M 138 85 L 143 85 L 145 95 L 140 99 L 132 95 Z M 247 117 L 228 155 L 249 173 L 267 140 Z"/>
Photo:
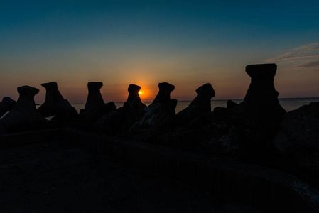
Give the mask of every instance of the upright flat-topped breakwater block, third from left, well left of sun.
<path id="1" fill-rule="evenodd" d="M 102 87 L 102 82 L 87 83 L 87 89 L 89 90 L 87 102 L 85 103 L 85 109 L 80 110 L 80 119 L 82 124 L 86 126 L 93 124 L 99 117 L 116 109 L 113 102 L 104 103 L 102 94 L 99 91 Z"/>

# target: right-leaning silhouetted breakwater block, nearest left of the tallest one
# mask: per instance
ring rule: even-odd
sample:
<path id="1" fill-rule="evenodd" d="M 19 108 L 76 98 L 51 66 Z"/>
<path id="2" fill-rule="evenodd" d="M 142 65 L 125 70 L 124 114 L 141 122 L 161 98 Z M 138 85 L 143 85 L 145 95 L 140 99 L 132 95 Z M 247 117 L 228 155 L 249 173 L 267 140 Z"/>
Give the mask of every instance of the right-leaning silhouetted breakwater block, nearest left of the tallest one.
<path id="1" fill-rule="evenodd" d="M 193 119 L 195 116 L 212 111 L 210 100 L 215 97 L 215 91 L 210 83 L 204 84 L 196 89 L 198 94 L 193 102 L 185 109 L 176 114 L 178 119 Z"/>

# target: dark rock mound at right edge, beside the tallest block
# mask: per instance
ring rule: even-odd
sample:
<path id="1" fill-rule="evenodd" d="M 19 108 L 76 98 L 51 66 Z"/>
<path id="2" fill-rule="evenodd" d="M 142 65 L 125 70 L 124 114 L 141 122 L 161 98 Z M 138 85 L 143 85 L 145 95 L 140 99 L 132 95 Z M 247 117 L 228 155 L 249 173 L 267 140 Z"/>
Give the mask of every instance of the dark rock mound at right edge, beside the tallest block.
<path id="1" fill-rule="evenodd" d="M 289 111 L 279 125 L 276 165 L 319 187 L 319 102 Z"/>

